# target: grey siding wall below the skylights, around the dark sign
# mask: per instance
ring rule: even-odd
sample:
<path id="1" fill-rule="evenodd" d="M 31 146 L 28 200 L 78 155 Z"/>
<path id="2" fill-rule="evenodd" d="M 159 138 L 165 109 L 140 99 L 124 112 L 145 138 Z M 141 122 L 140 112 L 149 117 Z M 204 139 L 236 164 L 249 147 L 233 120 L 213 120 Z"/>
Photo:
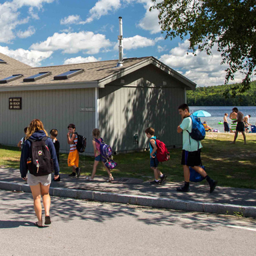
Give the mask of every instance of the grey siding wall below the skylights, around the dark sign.
<path id="1" fill-rule="evenodd" d="M 9 97 L 22 97 L 21 110 L 9 110 Z M 47 132 L 55 128 L 59 135 L 61 151 L 68 152 L 67 126 L 74 123 L 77 132 L 87 137 L 85 153 L 93 153 L 91 131 L 95 128 L 95 88 L 0 92 L 0 143 L 17 145 L 23 129 L 32 119 L 40 119 Z"/>

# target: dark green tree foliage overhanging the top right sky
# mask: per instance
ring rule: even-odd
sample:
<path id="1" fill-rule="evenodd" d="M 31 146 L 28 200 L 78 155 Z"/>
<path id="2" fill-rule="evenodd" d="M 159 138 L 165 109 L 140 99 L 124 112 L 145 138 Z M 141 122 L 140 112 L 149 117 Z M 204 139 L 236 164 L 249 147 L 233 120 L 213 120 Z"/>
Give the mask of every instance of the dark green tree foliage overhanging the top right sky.
<path id="1" fill-rule="evenodd" d="M 225 84 L 243 73 L 243 82 L 229 88 L 233 97 L 249 89 L 256 74 L 256 1 L 255 0 L 164 0 L 151 9 L 159 10 L 159 24 L 165 39 L 189 36 L 188 50 L 211 54 L 213 45 L 227 63 Z M 223 92 L 226 95 L 229 91 Z"/>

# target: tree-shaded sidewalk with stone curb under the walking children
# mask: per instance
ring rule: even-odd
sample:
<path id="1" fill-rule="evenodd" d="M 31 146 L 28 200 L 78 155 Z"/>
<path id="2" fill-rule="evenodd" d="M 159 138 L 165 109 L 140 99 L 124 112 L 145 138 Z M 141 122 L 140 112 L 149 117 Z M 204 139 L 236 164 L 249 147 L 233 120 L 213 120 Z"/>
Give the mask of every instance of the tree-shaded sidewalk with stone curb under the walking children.
<path id="1" fill-rule="evenodd" d="M 0 176 L 0 189 L 30 192 L 19 170 L 0 168 Z M 61 175 L 61 181 L 51 183 L 50 194 L 74 199 L 256 217 L 255 189 L 221 187 L 218 184 L 215 191 L 209 193 L 208 183 L 202 181 L 191 183 L 189 193 L 179 193 L 176 188 L 182 183 L 172 182 L 171 177 L 167 177 L 163 185 L 157 186 L 151 185 L 149 181 L 127 177 L 116 178 L 112 183 L 106 180 L 107 177 L 95 176 L 94 181 L 86 181 L 85 176 L 77 179 Z"/>

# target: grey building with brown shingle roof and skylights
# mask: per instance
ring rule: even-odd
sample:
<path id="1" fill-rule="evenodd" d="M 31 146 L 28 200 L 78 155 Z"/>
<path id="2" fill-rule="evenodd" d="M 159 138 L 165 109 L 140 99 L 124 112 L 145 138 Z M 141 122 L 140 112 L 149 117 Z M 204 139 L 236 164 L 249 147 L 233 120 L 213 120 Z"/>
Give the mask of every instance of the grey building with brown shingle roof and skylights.
<path id="1" fill-rule="evenodd" d="M 67 126 L 87 137 L 99 127 L 113 151 L 148 147 L 145 128 L 152 126 L 169 147 L 182 145 L 177 107 L 195 83 L 154 57 L 30 67 L 0 53 L 0 143 L 17 145 L 32 119 L 59 131 L 61 152 L 68 152 Z"/>

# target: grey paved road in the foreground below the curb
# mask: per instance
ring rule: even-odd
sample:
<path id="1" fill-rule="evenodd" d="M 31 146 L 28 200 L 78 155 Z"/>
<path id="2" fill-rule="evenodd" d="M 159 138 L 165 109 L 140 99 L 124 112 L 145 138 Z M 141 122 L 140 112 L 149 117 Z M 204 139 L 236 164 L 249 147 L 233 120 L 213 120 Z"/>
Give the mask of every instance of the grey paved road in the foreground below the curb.
<path id="1" fill-rule="evenodd" d="M 38 229 L 30 193 L 0 190 L 0 255 L 255 255 L 255 219 L 52 197 Z"/>

